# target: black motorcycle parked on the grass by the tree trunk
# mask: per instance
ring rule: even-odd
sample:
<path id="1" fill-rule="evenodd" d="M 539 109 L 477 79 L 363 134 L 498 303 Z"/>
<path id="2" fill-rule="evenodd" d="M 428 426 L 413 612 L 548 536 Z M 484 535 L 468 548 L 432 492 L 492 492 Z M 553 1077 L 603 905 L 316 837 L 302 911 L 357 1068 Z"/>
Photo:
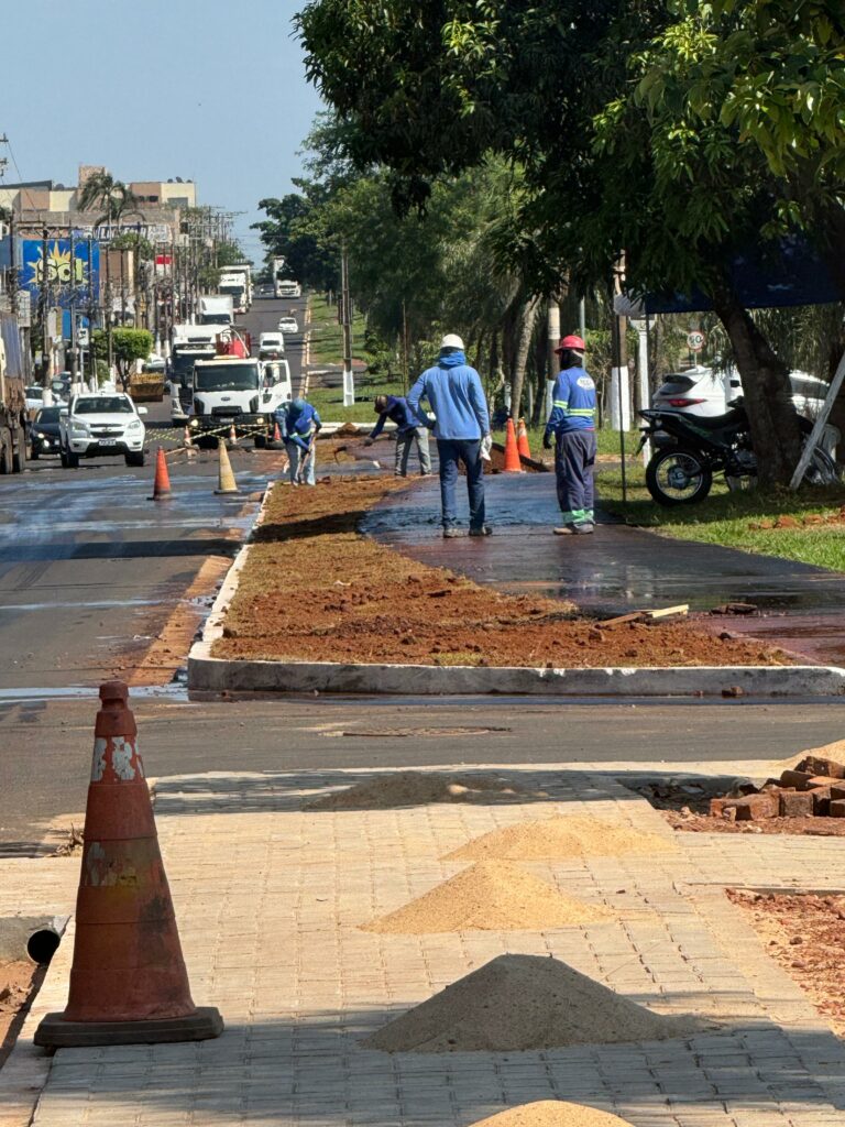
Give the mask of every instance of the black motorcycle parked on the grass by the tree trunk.
<path id="1" fill-rule="evenodd" d="M 729 488 L 757 474 L 757 459 L 751 445 L 748 415 L 741 399 L 729 405 L 726 415 L 702 416 L 684 411 L 650 409 L 640 411 L 646 426 L 640 427 L 639 449 L 651 442 L 655 453 L 646 467 L 646 485 L 659 505 L 694 505 L 704 500 L 713 485 L 713 474 L 723 472 Z M 812 423 L 799 416 L 804 441 Z M 830 455 L 816 447 L 806 480 L 829 485 L 839 480 Z"/>

